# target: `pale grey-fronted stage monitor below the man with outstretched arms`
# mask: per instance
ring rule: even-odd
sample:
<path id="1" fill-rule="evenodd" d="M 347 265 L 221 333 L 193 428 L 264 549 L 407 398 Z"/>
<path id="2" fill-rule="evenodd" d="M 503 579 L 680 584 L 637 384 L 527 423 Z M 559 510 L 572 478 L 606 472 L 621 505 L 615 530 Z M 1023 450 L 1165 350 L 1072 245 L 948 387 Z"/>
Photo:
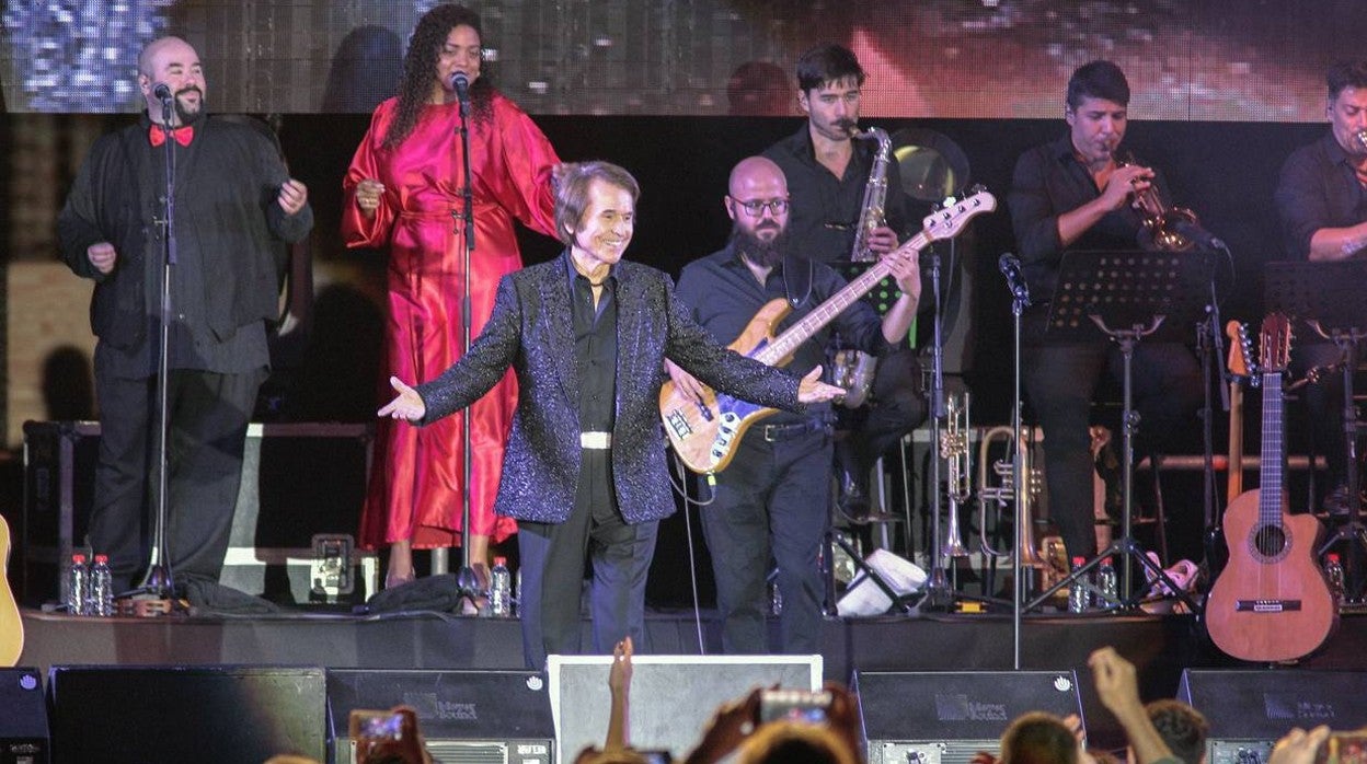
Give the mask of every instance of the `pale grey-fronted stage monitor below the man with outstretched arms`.
<path id="1" fill-rule="evenodd" d="M 607 675 L 612 656 L 552 655 L 547 660 L 559 760 L 574 761 L 607 735 Z M 723 702 L 755 687 L 822 687 L 819 655 L 638 655 L 632 659 L 632 745 L 675 760 L 697 742 Z"/>

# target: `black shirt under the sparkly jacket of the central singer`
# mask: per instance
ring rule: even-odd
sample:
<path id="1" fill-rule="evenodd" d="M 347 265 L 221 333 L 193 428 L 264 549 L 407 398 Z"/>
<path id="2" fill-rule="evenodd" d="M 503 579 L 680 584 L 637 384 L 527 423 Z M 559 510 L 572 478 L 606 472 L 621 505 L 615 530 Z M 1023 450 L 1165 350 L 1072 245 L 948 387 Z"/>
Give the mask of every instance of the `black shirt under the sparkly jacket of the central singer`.
<path id="1" fill-rule="evenodd" d="M 593 287 L 566 257 L 574 313 L 574 364 L 580 379 L 580 432 L 612 432 L 617 396 L 617 276 L 603 279 L 597 306 Z"/>

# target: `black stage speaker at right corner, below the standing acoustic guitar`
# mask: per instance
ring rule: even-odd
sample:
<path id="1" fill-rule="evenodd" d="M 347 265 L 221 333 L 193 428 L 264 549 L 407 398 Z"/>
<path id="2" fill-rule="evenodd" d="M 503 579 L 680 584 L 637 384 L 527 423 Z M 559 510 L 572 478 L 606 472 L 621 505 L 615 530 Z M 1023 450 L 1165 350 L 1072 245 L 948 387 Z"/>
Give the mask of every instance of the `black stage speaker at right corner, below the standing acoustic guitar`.
<path id="1" fill-rule="evenodd" d="M 1199 670 L 1182 671 L 1177 700 L 1206 715 L 1207 764 L 1267 761 L 1273 743 L 1292 727 L 1367 724 L 1367 671 Z"/>

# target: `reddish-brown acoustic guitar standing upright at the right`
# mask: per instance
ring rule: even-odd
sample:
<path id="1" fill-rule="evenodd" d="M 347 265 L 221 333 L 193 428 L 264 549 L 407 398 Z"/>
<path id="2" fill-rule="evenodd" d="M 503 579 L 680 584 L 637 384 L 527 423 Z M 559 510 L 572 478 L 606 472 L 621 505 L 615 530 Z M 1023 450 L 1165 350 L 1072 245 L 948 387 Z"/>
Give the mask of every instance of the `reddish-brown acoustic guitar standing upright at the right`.
<path id="1" fill-rule="evenodd" d="M 1315 515 L 1289 515 L 1282 482 L 1282 372 L 1290 325 L 1273 313 L 1259 340 L 1263 387 L 1262 470 L 1258 488 L 1225 510 L 1229 564 L 1206 599 L 1206 627 L 1225 653 L 1243 660 L 1285 661 L 1315 652 L 1338 622 L 1334 596 L 1315 563 L 1323 528 Z"/>

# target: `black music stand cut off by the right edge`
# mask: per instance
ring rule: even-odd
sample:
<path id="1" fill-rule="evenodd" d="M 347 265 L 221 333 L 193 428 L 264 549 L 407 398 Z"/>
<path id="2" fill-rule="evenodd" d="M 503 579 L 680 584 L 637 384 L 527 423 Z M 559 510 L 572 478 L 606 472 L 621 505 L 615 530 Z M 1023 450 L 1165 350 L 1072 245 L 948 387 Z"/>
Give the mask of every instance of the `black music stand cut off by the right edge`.
<path id="1" fill-rule="evenodd" d="M 1362 474 L 1357 472 L 1357 409 L 1353 372 L 1357 343 L 1367 338 L 1367 260 L 1341 262 L 1269 262 L 1264 271 L 1267 310 L 1305 321 L 1338 347 L 1344 374 L 1344 477 L 1348 481 L 1348 522 L 1316 551 L 1323 555 L 1338 541 L 1356 541 L 1367 552 L 1363 525 Z M 1345 558 L 1352 564 L 1352 555 Z"/>

